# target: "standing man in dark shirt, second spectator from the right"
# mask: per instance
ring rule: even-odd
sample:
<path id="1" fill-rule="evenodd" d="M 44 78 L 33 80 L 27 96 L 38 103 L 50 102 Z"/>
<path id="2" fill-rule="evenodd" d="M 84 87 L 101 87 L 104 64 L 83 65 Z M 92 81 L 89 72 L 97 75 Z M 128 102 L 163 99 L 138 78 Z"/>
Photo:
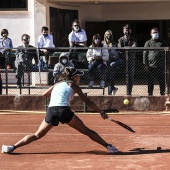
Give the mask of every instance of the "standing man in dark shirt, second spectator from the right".
<path id="1" fill-rule="evenodd" d="M 131 27 L 130 25 L 125 25 L 123 27 L 124 36 L 118 40 L 118 47 L 137 47 L 137 40 L 136 38 L 131 37 Z M 132 87 L 134 81 L 134 74 L 135 74 L 135 61 L 136 61 L 136 53 L 134 51 L 128 51 L 128 58 L 126 58 L 125 51 L 121 53 L 124 62 L 127 62 L 127 70 L 126 73 L 128 76 L 127 78 L 127 95 L 132 95 Z"/>

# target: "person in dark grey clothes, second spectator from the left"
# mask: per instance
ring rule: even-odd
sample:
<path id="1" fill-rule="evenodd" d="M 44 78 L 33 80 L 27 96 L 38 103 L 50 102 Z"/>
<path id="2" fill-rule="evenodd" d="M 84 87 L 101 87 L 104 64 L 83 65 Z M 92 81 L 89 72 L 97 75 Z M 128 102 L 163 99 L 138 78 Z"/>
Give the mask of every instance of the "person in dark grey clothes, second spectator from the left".
<path id="1" fill-rule="evenodd" d="M 30 36 L 23 34 L 21 37 L 23 45 L 19 46 L 16 50 L 16 78 L 17 78 L 17 87 L 21 88 L 21 78 L 24 75 L 24 71 L 30 73 L 32 70 L 32 60 L 35 60 L 35 64 L 38 64 L 38 56 L 36 53 L 35 47 L 29 45 Z M 30 48 L 30 49 L 29 49 Z"/>

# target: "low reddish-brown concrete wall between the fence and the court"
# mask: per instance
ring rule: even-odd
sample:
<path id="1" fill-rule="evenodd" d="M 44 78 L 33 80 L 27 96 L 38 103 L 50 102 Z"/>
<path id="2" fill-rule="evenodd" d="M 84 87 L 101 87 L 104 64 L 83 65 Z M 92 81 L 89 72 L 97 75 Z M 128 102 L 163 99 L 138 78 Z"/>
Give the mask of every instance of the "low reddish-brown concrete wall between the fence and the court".
<path id="1" fill-rule="evenodd" d="M 124 111 L 164 112 L 166 110 L 165 103 L 167 101 L 168 96 L 147 96 L 147 97 L 89 96 L 88 98 L 94 101 L 102 110 L 116 108 L 122 112 Z M 124 99 L 129 100 L 128 105 L 123 104 Z M 40 95 L 0 96 L 0 110 L 45 111 L 44 105 L 45 98 Z M 71 101 L 71 108 L 74 111 L 83 112 L 84 111 L 83 101 L 78 96 L 75 96 Z M 87 107 L 87 111 L 92 112 L 93 110 Z"/>

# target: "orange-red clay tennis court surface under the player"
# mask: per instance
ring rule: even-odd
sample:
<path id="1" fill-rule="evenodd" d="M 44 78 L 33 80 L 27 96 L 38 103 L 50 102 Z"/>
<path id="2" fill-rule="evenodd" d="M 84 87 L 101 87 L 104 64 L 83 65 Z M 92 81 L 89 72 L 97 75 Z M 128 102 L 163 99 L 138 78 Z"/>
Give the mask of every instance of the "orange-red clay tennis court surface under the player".
<path id="1" fill-rule="evenodd" d="M 34 133 L 45 114 L 0 113 L 0 146 L 14 144 Z M 110 115 L 136 133 L 103 120 L 99 115 L 78 114 L 120 152 L 106 149 L 67 125 L 54 127 L 44 138 L 0 154 L 0 170 L 169 170 L 170 114 L 118 113 Z M 157 149 L 161 147 L 161 150 Z"/>

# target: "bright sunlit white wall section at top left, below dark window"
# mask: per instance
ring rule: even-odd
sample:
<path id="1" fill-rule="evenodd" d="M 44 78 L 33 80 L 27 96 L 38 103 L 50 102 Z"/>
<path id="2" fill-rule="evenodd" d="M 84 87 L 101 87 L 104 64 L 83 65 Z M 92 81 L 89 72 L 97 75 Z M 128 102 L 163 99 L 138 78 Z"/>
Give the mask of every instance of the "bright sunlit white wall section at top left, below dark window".
<path id="1" fill-rule="evenodd" d="M 34 43 L 34 0 L 28 1 L 28 11 L 0 11 L 0 30 L 8 29 L 13 46 L 21 45 L 21 36 L 27 33 Z"/>

